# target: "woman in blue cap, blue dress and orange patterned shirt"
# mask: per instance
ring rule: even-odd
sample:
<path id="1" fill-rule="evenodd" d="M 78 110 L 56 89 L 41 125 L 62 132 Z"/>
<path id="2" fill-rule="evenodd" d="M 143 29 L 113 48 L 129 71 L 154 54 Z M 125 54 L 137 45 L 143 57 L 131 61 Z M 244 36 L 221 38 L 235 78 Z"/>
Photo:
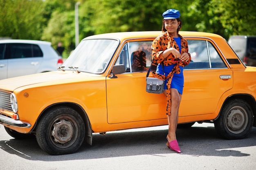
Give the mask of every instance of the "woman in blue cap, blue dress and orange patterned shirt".
<path id="1" fill-rule="evenodd" d="M 182 26 L 180 12 L 176 9 L 168 9 L 163 13 L 163 17 L 163 33 L 151 46 L 153 62 L 158 64 L 157 71 L 153 72 L 153 75 L 159 79 L 166 79 L 164 95 L 167 97 L 166 114 L 169 125 L 166 146 L 180 153 L 175 131 L 184 85 L 183 67 L 189 64 L 191 56 L 188 53 L 187 41 L 178 34 Z"/>

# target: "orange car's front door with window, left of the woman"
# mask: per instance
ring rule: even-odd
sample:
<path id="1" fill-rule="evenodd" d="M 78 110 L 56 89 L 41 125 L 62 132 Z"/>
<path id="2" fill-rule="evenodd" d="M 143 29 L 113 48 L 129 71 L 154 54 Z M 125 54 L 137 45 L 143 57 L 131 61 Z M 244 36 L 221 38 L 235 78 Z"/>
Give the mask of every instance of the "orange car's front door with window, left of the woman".
<path id="1" fill-rule="evenodd" d="M 146 73 L 151 64 L 150 41 L 127 42 L 124 44 L 115 65 L 124 64 L 126 73 L 117 78 L 107 77 L 108 123 L 124 123 L 166 118 L 166 98 L 164 94 L 146 93 Z M 146 69 L 135 68 L 134 54 L 144 58 Z"/>

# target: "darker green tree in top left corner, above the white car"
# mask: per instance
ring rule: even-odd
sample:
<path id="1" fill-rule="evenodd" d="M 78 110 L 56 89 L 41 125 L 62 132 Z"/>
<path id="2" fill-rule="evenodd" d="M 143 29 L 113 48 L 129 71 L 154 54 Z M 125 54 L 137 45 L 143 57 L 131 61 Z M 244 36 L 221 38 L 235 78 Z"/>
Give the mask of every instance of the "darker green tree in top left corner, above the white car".
<path id="1" fill-rule="evenodd" d="M 0 37 L 40 40 L 42 0 L 0 0 Z"/>

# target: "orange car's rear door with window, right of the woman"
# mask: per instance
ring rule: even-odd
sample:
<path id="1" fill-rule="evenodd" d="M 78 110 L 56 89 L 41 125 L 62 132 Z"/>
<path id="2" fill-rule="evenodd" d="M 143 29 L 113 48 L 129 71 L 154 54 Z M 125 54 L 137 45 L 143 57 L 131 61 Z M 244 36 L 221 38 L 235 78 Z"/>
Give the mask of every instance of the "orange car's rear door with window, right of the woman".
<path id="1" fill-rule="evenodd" d="M 187 40 L 191 62 L 184 67 L 184 94 L 179 117 L 212 114 L 222 94 L 232 88 L 233 72 L 214 42 Z"/>

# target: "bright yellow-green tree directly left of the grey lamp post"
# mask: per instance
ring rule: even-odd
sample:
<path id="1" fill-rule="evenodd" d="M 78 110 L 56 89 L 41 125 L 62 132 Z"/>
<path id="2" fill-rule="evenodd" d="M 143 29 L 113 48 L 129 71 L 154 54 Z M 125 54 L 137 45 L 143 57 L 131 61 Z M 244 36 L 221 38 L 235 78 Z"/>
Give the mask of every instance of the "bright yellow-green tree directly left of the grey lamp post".
<path id="1" fill-rule="evenodd" d="M 54 48 L 62 42 L 65 51 L 63 57 L 68 57 L 75 48 L 74 5 L 76 0 L 45 0 L 45 29 L 42 40 L 52 42 Z"/>

